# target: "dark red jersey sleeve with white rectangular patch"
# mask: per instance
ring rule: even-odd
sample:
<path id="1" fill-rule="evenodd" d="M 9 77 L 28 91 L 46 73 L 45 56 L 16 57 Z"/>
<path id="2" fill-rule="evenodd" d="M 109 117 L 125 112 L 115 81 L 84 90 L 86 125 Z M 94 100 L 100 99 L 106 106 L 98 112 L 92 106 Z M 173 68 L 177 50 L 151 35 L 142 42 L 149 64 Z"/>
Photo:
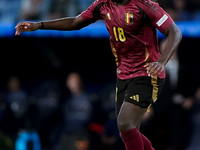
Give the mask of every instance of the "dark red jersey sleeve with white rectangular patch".
<path id="1" fill-rule="evenodd" d="M 164 32 L 173 22 L 173 19 L 159 6 L 158 3 L 151 2 L 150 0 L 139 0 L 145 1 L 140 3 L 140 7 L 149 16 L 151 23 L 160 32 Z"/>

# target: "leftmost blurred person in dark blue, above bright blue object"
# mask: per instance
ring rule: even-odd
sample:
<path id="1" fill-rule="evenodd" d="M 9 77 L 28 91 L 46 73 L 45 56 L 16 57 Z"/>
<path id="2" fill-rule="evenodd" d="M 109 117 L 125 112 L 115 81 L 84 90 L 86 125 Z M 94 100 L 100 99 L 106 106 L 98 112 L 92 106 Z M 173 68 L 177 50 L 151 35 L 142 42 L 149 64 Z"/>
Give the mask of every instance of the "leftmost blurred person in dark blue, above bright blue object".
<path id="1" fill-rule="evenodd" d="M 7 83 L 8 91 L 5 93 L 5 103 L 9 118 L 5 120 L 5 128 L 9 133 L 16 134 L 20 128 L 24 127 L 29 103 L 26 92 L 21 89 L 21 82 L 18 77 L 12 76 Z M 13 126 L 13 122 L 15 125 Z"/>

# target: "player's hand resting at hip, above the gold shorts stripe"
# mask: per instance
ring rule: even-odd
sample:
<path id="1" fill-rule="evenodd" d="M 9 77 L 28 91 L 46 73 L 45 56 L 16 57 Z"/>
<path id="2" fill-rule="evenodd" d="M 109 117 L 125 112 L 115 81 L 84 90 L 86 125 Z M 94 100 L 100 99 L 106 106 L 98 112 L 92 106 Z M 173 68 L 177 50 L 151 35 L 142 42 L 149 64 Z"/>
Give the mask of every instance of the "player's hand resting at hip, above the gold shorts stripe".
<path id="1" fill-rule="evenodd" d="M 146 67 L 147 73 L 151 77 L 159 76 L 165 69 L 165 65 L 160 62 L 149 62 L 144 67 Z"/>

